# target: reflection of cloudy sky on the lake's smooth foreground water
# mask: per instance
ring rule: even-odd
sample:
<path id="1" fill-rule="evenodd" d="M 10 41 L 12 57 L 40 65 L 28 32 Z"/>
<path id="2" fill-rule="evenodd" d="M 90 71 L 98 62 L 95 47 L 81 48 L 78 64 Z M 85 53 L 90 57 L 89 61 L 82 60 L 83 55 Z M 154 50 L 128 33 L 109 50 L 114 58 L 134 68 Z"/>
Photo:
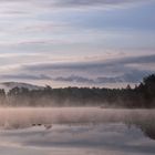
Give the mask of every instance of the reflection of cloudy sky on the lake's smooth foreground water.
<path id="1" fill-rule="evenodd" d="M 0 148 L 16 155 L 28 151 L 49 155 L 154 155 L 155 141 L 146 138 L 141 130 L 123 123 L 53 125 L 45 130 L 43 125 L 23 130 L 0 132 Z M 0 149 L 0 154 L 1 149 Z M 4 154 L 3 154 L 4 155 Z"/>

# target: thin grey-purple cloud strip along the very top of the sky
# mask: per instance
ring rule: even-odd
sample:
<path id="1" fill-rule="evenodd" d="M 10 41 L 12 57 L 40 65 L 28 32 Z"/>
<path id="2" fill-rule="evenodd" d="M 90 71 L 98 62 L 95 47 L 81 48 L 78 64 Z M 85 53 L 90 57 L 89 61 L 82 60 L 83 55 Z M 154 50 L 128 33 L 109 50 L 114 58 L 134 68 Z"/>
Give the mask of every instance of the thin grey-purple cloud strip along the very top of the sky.
<path id="1" fill-rule="evenodd" d="M 152 2 L 148 0 L 147 2 Z M 121 6 L 126 3 L 146 2 L 145 0 L 0 0 L 3 3 L 29 3 L 41 8 L 79 8 L 79 7 L 103 7 Z M 17 11 L 17 13 L 19 13 Z"/>

